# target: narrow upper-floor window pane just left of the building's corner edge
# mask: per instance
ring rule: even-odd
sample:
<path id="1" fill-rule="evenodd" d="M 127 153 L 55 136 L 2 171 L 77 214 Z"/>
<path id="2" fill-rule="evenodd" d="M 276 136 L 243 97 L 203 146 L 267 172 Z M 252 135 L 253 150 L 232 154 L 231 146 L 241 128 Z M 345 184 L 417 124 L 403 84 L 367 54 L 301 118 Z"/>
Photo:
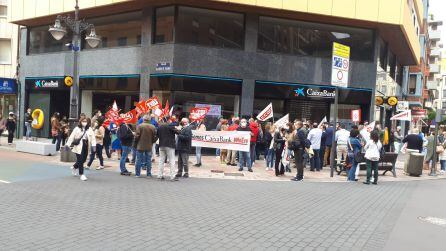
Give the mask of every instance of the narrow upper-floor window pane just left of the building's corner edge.
<path id="1" fill-rule="evenodd" d="M 175 6 L 163 7 L 155 10 L 154 43 L 173 42 L 174 20 Z"/>

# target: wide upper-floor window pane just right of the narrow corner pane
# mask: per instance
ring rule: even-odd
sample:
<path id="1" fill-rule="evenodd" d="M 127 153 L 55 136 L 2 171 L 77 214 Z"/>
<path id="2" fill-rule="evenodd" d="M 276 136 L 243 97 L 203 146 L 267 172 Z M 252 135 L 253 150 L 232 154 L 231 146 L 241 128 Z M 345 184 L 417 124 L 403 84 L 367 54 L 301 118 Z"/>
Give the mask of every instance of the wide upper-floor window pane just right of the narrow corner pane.
<path id="1" fill-rule="evenodd" d="M 243 49 L 244 34 L 243 14 L 178 7 L 175 42 Z"/>

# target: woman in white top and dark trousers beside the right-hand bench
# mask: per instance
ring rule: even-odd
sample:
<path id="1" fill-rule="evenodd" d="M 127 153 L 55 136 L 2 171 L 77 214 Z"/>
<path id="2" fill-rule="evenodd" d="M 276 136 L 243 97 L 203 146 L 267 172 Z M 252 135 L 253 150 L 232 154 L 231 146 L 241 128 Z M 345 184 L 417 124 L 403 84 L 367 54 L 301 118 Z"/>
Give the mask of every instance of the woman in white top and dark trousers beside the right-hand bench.
<path id="1" fill-rule="evenodd" d="M 379 135 L 376 131 L 370 133 L 370 141 L 365 145 L 365 159 L 367 162 L 367 180 L 364 184 L 369 185 L 373 170 L 373 184 L 378 184 L 378 162 L 382 144 L 379 141 Z"/>

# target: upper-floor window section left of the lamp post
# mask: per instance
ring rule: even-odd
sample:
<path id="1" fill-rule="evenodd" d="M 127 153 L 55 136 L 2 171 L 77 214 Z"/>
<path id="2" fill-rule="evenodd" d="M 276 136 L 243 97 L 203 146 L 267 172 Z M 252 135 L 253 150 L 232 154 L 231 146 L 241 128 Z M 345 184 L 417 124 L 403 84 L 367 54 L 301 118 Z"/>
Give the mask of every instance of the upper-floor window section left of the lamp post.
<path id="1" fill-rule="evenodd" d="M 29 28 L 28 54 L 70 50 L 66 46 L 66 44 L 71 43 L 72 32 L 70 29 L 67 29 L 67 34 L 61 40 L 54 39 L 48 29 L 49 25 Z"/>

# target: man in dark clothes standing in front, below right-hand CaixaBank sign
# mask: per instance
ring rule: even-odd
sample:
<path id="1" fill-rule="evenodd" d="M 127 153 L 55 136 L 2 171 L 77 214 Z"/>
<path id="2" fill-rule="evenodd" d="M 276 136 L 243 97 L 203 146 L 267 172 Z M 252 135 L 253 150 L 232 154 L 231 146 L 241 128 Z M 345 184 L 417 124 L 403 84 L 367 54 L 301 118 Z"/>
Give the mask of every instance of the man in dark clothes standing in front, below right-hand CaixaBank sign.
<path id="1" fill-rule="evenodd" d="M 294 151 L 294 162 L 296 165 L 297 173 L 296 177 L 291 179 L 292 181 L 301 181 L 304 179 L 304 151 L 305 151 L 305 140 L 307 138 L 305 130 L 303 129 L 303 123 L 297 121 L 296 132 L 294 134 L 293 141 L 293 151 Z"/>

